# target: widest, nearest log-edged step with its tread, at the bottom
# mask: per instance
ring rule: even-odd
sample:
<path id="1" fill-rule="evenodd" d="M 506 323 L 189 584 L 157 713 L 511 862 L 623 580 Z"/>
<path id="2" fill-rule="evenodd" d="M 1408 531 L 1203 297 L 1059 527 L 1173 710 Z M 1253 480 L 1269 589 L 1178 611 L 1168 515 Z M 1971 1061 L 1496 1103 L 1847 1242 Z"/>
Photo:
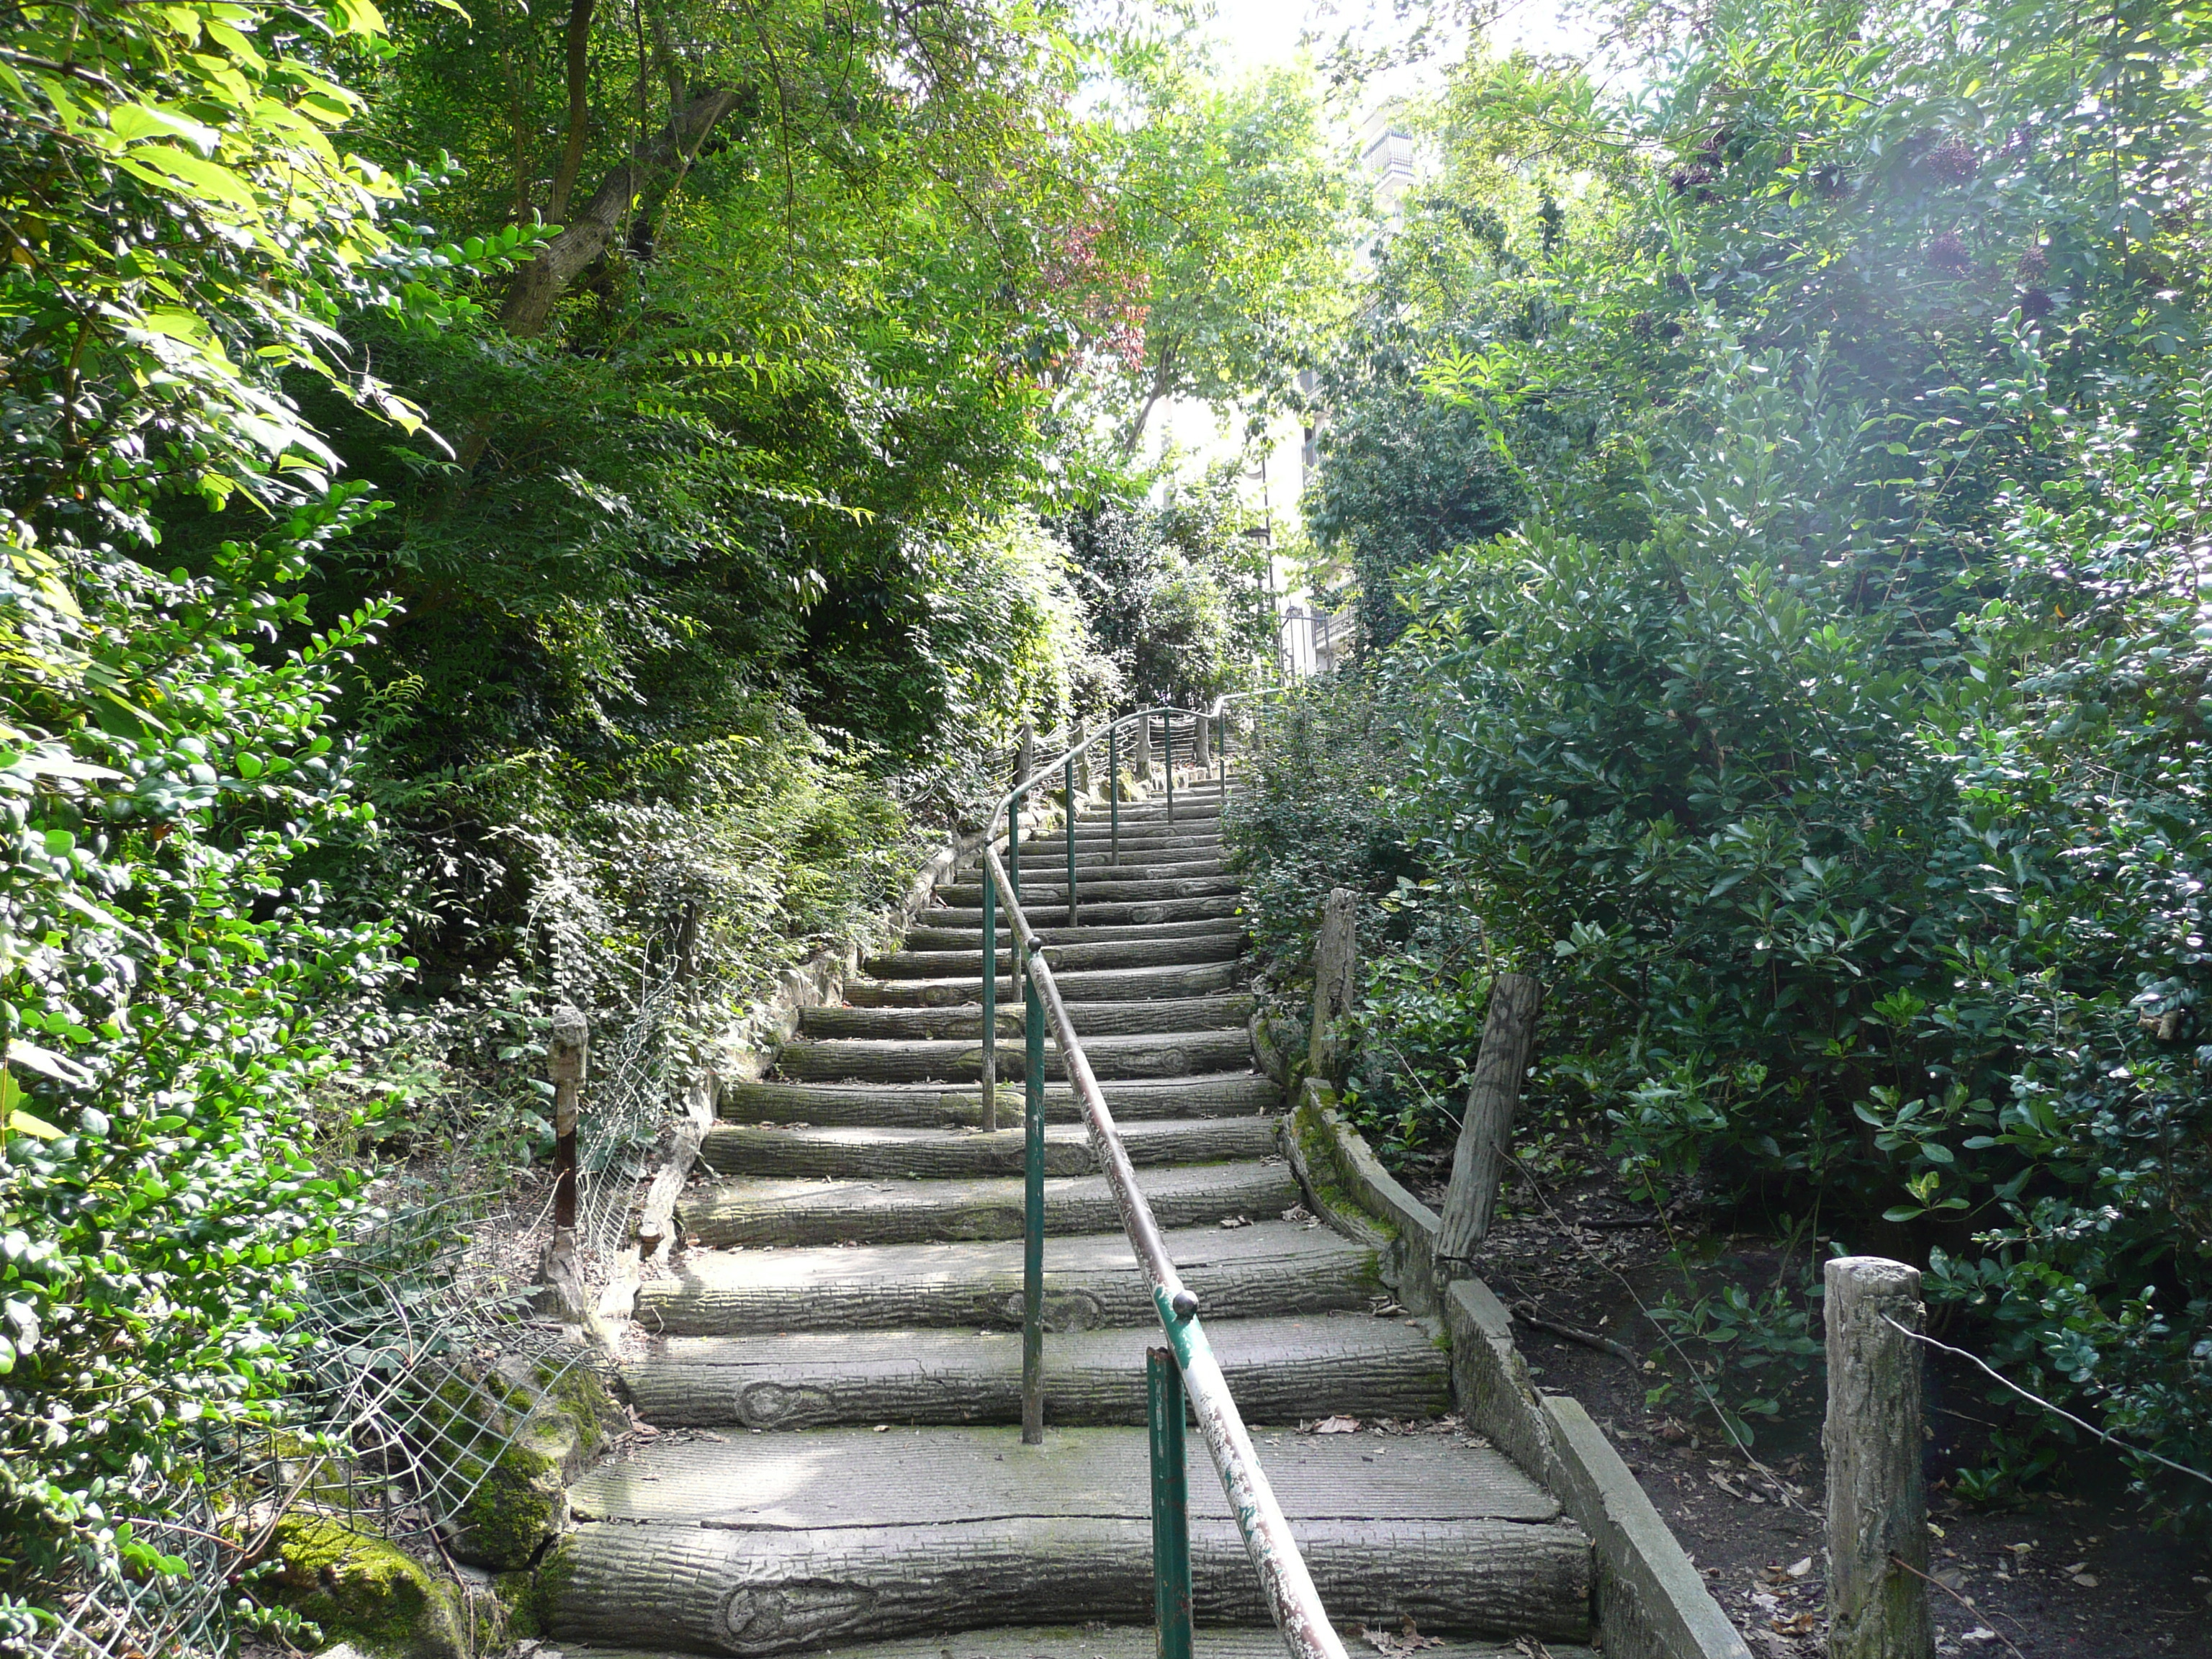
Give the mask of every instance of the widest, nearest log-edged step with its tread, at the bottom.
<path id="1" fill-rule="evenodd" d="M 1495 1451 L 1263 1436 L 1261 1467 L 1343 1626 L 1582 1639 L 1590 1546 Z M 571 1489 L 555 1630 L 732 1655 L 1152 1606 L 1146 1436 L 849 1429 L 657 1447 Z M 1265 1617 L 1214 1480 L 1190 1482 L 1201 1619 Z"/>

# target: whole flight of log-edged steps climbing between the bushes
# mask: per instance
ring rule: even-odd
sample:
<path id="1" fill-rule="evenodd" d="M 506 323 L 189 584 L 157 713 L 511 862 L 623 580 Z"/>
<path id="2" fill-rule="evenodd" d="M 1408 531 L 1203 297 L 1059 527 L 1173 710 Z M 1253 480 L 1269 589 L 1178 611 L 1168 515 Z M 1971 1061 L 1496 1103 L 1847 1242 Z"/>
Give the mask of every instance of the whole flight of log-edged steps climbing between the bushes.
<path id="1" fill-rule="evenodd" d="M 1440 1422 L 1447 1356 L 1389 1307 L 1376 1252 L 1301 1206 L 1281 1088 L 1252 1073 L 1221 794 L 1121 810 L 1121 863 L 1079 821 L 1026 843 L 1040 927 L 1084 1051 L 1307 1566 L 1343 1630 L 1588 1632 L 1590 1548 L 1498 1451 Z M 557 1630 L 628 1650 L 765 1655 L 927 1641 L 1051 1652 L 1040 1621 L 1152 1610 L 1144 1349 L 1152 1303 L 1046 1042 L 1046 1438 L 1024 1447 L 1022 1004 L 1000 951 L 998 1133 L 980 1130 L 982 889 L 938 889 L 845 1006 L 810 1009 L 779 1075 L 723 1093 L 692 1248 L 648 1283 L 628 1367 L 670 1438 L 573 1489 Z M 1004 933 L 1002 933 L 1004 938 Z M 1301 1422 L 1394 1420 L 1394 1433 Z M 1429 1427 L 1433 1431 L 1405 1431 Z M 1201 1648 L 1281 1652 L 1210 1471 L 1192 1471 Z M 1006 1648 L 1006 1641 L 1013 1646 Z M 1082 1632 L 1071 1655 L 1117 1632 Z M 1024 1646 L 1026 1644 L 1026 1646 Z M 1141 1646 L 1141 1644 L 1139 1644 Z M 900 1648 L 885 1648 L 887 1655 Z M 1453 1652 L 1498 1652 L 1480 1641 Z M 1553 1648 L 1553 1652 L 1566 1652 Z"/>

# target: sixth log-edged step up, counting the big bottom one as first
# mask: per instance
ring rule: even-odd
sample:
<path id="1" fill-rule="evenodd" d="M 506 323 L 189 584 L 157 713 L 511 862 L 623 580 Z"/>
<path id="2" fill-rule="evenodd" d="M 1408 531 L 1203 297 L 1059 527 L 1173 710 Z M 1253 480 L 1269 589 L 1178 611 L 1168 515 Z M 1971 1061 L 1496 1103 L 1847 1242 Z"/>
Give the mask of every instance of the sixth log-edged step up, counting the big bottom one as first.
<path id="1" fill-rule="evenodd" d="M 1283 1091 L 1272 1077 L 1221 1073 L 1214 1077 L 1124 1077 L 1104 1084 L 1106 1108 L 1121 1126 L 1166 1117 L 1252 1117 L 1279 1110 Z M 1022 1110 L 1022 1091 L 1000 1091 L 1000 1121 Z M 732 1124 L 818 1124 L 865 1128 L 962 1128 L 982 1121 L 975 1084 L 741 1084 L 721 1086 L 721 1117 Z M 1044 1086 L 1044 1121 L 1079 1124 L 1082 1108 L 1068 1084 Z"/>

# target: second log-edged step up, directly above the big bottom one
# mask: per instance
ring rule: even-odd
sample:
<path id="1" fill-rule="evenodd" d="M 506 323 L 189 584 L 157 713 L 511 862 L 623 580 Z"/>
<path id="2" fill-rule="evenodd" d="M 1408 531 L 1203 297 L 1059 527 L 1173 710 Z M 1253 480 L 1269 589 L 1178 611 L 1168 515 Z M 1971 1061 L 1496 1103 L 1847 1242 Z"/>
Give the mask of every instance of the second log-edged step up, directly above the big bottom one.
<path id="1" fill-rule="evenodd" d="M 1449 1354 L 1420 1325 L 1371 1314 L 1208 1321 L 1248 1422 L 1425 1418 L 1451 1409 Z M 1144 1352 L 1157 1327 L 1044 1338 L 1044 1420 L 1144 1422 Z M 637 1411 L 664 1429 L 838 1422 L 1020 1422 L 1020 1332 L 668 1336 L 626 1369 Z"/>

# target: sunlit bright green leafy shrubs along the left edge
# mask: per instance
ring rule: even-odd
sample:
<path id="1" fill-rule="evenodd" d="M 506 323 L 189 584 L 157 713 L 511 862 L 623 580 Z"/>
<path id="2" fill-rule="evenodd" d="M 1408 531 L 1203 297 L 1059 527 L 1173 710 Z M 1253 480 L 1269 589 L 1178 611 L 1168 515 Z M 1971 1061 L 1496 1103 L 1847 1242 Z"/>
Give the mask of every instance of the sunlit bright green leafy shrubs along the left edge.
<path id="1" fill-rule="evenodd" d="M 365 509 L 279 374 L 394 409 L 330 319 L 453 310 L 422 281 L 451 259 L 389 239 L 398 186 L 327 135 L 354 104 L 316 44 L 369 29 L 69 4 L 11 13 L 0 49 L 11 1635 L 75 1575 L 184 1571 L 164 1493 L 263 1409 L 292 1263 L 354 1181 L 310 1161 L 310 1097 L 396 964 L 299 863 L 372 825 L 332 703 L 387 608 L 310 626 L 301 582 Z M 179 491 L 272 511 L 164 575 Z"/>

